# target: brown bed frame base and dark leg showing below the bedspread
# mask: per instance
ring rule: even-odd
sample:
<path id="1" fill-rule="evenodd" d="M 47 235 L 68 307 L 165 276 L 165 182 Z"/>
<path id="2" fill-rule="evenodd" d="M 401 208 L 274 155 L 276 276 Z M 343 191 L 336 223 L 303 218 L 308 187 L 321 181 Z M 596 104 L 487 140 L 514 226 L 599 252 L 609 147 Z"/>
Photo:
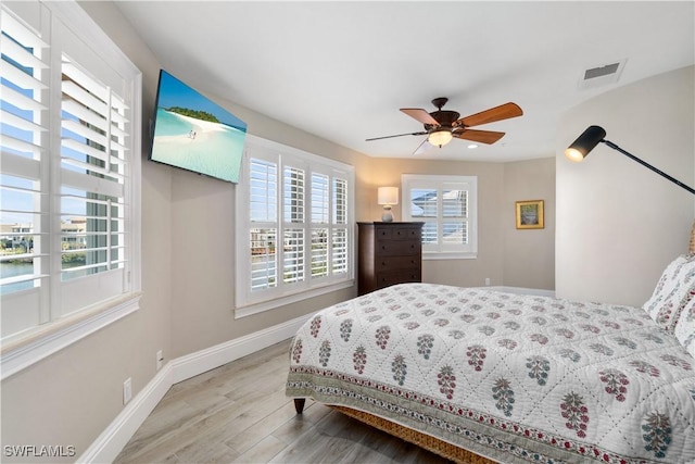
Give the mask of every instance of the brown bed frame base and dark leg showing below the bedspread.
<path id="1" fill-rule="evenodd" d="M 294 409 L 296 410 L 298 414 L 302 414 L 305 403 L 306 399 L 304 398 L 294 399 Z M 416 444 L 427 451 L 439 454 L 440 456 L 445 457 L 450 461 L 462 464 L 495 464 L 495 461 L 491 461 L 471 451 L 456 447 L 430 435 L 413 430 L 412 428 L 407 428 L 382 417 L 378 417 L 372 414 L 345 406 L 329 405 L 329 407 L 342 414 L 345 414 L 349 417 L 355 418 L 364 424 L 375 427 L 381 431 L 386 431 L 389 435 L 407 441 L 408 443 Z"/>

